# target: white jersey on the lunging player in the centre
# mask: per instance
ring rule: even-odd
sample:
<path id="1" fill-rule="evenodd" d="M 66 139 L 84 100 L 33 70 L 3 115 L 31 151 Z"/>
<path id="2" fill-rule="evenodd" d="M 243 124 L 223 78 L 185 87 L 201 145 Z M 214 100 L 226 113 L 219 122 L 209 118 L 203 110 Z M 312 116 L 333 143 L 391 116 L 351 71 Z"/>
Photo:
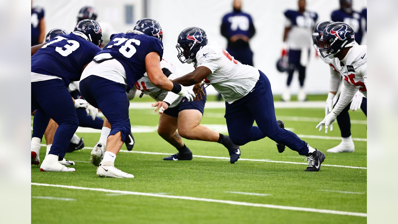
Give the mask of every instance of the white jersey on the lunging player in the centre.
<path id="1" fill-rule="evenodd" d="M 197 52 L 194 67 L 200 66 L 211 70 L 205 83 L 212 84 L 229 104 L 246 96 L 260 76 L 258 69 L 236 61 L 215 41 L 209 41 Z"/>

